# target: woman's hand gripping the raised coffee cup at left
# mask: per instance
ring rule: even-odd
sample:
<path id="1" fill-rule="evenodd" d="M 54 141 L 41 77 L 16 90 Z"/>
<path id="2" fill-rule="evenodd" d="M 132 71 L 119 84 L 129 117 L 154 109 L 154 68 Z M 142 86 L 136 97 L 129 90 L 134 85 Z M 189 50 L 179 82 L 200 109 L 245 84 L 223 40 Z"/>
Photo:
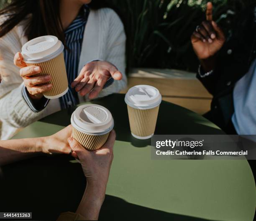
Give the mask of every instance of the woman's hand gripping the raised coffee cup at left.
<path id="1" fill-rule="evenodd" d="M 24 81 L 30 98 L 39 100 L 43 97 L 44 92 L 51 90 L 52 85 L 48 83 L 51 80 L 51 76 L 37 76 L 41 72 L 41 68 L 39 66 L 27 66 L 21 53 L 15 54 L 14 64 L 21 68 L 20 76 Z"/>

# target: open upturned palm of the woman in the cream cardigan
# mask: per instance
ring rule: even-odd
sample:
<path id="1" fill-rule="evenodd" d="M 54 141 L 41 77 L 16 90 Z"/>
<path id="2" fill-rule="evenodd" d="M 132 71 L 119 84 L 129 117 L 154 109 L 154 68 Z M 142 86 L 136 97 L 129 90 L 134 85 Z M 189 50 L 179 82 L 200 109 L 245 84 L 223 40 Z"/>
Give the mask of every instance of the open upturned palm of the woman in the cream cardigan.
<path id="1" fill-rule="evenodd" d="M 78 77 L 72 83 L 81 96 L 88 93 L 89 98 L 96 98 L 102 90 L 107 80 L 112 77 L 114 80 L 122 80 L 122 73 L 115 65 L 108 61 L 92 61 L 84 65 Z"/>

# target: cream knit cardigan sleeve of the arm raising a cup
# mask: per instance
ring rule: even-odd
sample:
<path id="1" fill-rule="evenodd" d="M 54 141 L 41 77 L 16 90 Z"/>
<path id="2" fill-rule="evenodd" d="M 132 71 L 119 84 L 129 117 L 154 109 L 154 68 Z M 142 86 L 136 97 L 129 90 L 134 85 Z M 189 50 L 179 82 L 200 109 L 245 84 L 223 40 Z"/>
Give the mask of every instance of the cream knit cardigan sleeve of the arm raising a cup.
<path id="1" fill-rule="evenodd" d="M 13 64 L 14 55 L 21 47 L 22 43 L 15 28 L 0 38 L 0 121 L 3 125 L 14 128 L 28 126 L 40 118 L 40 113 L 31 111 L 24 100 L 23 80 L 19 68 Z"/>

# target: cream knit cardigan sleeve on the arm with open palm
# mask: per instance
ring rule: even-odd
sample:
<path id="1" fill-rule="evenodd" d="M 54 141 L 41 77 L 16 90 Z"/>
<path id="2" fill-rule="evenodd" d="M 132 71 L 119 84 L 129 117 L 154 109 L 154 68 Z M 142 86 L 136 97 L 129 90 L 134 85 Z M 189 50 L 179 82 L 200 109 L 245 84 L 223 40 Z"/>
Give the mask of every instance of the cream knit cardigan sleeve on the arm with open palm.
<path id="1" fill-rule="evenodd" d="M 105 49 L 107 50 L 107 57 L 105 60 L 114 64 L 118 70 L 123 74 L 122 80 L 115 80 L 112 85 L 108 88 L 103 89 L 98 97 L 104 97 L 112 93 L 118 93 L 120 90 L 123 90 L 127 87 L 127 78 L 125 75 L 125 30 L 123 27 L 123 23 L 120 20 L 119 16 L 111 9 L 104 9 L 108 24 L 105 25 L 108 31 L 108 39 L 106 41 L 107 46 Z"/>

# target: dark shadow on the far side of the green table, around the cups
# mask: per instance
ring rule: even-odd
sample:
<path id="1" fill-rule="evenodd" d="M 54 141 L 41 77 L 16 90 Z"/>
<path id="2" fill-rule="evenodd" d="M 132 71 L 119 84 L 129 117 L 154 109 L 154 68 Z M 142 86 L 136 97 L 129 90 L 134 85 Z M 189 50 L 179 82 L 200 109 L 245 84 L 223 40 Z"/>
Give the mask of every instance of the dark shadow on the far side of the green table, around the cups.
<path id="1" fill-rule="evenodd" d="M 124 102 L 123 94 L 113 94 L 91 103 L 102 105 L 110 110 L 115 120 L 115 131 L 118 141 L 126 141 L 135 147 L 146 147 L 151 144 L 151 139 L 138 140 L 133 138 L 130 132 L 127 106 Z M 57 112 L 41 119 L 46 123 L 67 126 L 75 107 Z M 156 123 L 155 134 L 224 134 L 218 128 L 213 128 L 212 123 L 202 116 L 182 108 L 178 105 L 162 101 Z"/>

